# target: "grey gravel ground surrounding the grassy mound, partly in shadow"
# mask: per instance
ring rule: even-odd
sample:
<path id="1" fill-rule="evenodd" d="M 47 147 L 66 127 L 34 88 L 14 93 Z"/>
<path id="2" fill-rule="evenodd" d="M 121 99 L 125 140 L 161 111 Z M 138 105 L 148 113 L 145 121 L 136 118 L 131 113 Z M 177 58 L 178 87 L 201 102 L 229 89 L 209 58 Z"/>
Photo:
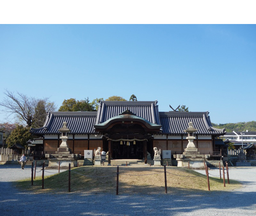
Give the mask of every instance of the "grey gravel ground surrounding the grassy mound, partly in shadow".
<path id="1" fill-rule="evenodd" d="M 31 177 L 30 167 L 0 165 L 0 215 L 256 215 L 256 168 L 232 167 L 229 176 L 243 185 L 233 191 L 159 195 L 34 194 L 11 187 L 11 181 Z"/>

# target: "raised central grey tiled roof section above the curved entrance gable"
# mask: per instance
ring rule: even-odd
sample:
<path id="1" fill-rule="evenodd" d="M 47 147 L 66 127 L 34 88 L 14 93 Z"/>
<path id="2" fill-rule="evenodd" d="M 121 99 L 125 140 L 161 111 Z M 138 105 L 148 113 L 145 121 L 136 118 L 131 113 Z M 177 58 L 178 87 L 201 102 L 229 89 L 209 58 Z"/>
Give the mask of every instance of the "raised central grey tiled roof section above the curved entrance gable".
<path id="1" fill-rule="evenodd" d="M 157 101 L 100 101 L 96 124 L 130 110 L 153 124 L 160 124 Z"/>

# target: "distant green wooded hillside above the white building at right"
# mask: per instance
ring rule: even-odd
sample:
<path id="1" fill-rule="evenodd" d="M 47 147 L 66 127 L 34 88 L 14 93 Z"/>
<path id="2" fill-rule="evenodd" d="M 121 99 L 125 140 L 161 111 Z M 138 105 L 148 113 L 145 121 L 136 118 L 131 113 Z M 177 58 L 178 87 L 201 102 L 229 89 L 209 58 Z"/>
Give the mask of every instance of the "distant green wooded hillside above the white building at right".
<path id="1" fill-rule="evenodd" d="M 226 123 L 226 124 L 214 124 L 212 126 L 215 128 L 226 128 L 227 132 L 232 131 L 256 131 L 256 121 L 251 122 L 238 122 L 238 123 Z"/>

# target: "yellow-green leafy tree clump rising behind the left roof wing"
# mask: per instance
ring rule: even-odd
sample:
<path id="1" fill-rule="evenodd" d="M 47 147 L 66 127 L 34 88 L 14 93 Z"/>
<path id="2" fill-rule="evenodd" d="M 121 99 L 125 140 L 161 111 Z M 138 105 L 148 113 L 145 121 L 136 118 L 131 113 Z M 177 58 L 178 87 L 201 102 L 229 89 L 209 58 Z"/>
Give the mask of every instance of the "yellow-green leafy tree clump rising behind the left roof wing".
<path id="1" fill-rule="evenodd" d="M 60 106 L 59 112 L 76 112 L 76 111 L 95 111 L 92 104 L 89 103 L 89 98 L 84 100 L 76 100 L 74 98 L 70 98 L 68 100 L 64 100 L 62 105 Z"/>

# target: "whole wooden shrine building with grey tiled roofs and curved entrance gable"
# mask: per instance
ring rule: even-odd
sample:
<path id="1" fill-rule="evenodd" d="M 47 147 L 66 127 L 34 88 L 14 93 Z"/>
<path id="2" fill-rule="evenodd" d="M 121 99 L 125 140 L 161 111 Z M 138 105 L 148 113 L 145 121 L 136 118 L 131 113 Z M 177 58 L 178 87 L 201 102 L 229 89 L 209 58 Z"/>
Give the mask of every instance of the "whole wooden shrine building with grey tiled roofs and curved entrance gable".
<path id="1" fill-rule="evenodd" d="M 84 156 L 84 150 L 98 147 L 113 159 L 144 159 L 153 148 L 182 154 L 188 144 L 188 123 L 198 129 L 194 144 L 202 154 L 219 151 L 215 138 L 225 129 L 212 127 L 209 112 L 159 112 L 157 101 L 100 101 L 95 112 L 49 112 L 44 126 L 31 128 L 43 137 L 43 152 L 53 153 L 61 143 L 58 131 L 67 122 L 68 147 Z"/>

